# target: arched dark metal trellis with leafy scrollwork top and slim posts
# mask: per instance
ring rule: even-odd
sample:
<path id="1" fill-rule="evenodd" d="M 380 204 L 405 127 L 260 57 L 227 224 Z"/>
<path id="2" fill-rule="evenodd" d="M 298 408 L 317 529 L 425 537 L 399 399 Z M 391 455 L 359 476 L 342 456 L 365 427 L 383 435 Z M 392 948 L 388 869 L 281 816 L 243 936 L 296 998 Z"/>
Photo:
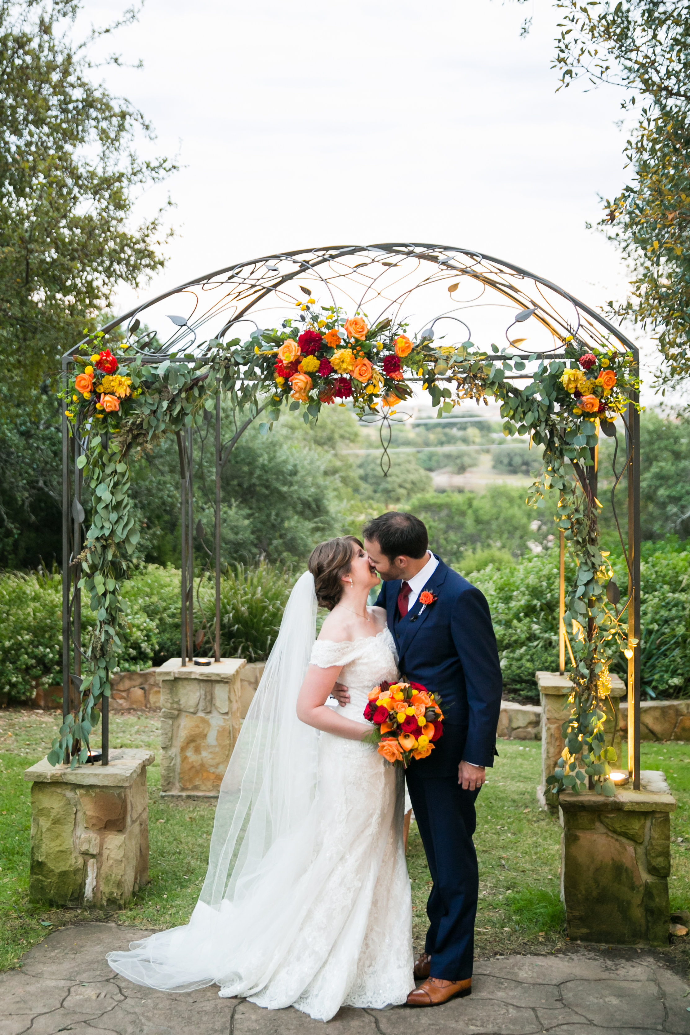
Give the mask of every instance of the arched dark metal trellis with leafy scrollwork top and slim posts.
<path id="1" fill-rule="evenodd" d="M 635 345 L 602 316 L 573 295 L 541 276 L 469 248 L 440 244 L 383 243 L 306 248 L 264 256 L 215 270 L 152 298 L 102 328 L 106 343 L 117 334 L 140 356 L 155 366 L 175 359 L 196 363 L 213 346 L 243 335 L 254 328 L 277 327 L 283 320 L 303 319 L 301 303 L 312 295 L 322 305 L 338 305 L 351 315 L 360 310 L 370 320 L 390 317 L 408 321 L 420 332 L 445 336 L 449 344 L 474 337 L 482 348 L 498 341 L 508 345 L 518 371 L 506 379 L 530 380 L 539 363 L 563 359 L 564 343 L 574 339 L 591 349 L 614 346 L 631 352 Z M 528 323 L 529 321 L 529 323 Z M 471 330 L 472 328 L 472 330 Z M 524 336 L 526 335 L 526 336 Z M 422 333 L 423 336 L 423 333 Z M 83 343 L 63 356 L 66 384 L 73 355 Z M 503 358 L 508 358 L 504 356 Z M 637 367 L 638 368 L 638 367 Z M 407 378 L 414 383 L 421 379 Z M 443 380 L 443 379 L 438 379 Z M 627 616 L 629 640 L 639 640 L 639 415 L 636 393 L 630 397 L 623 418 L 625 446 L 613 461 L 611 505 L 616 515 L 616 492 L 624 476 L 627 482 L 628 525 L 619 534 L 628 566 L 628 593 L 620 614 Z M 65 404 L 66 410 L 66 404 Z M 260 409 L 242 418 L 231 439 L 221 440 L 220 396 L 215 419 L 215 626 L 214 653 L 220 657 L 220 484 L 232 448 Z M 381 418 L 384 423 L 387 419 Z M 63 714 L 69 711 L 72 687 L 81 685 L 82 632 L 80 566 L 74 563 L 82 549 L 82 472 L 78 460 L 85 442 L 79 424 L 70 438 L 67 417 L 62 421 L 63 461 Z M 383 443 L 382 437 L 382 443 Z M 618 442 L 617 442 L 618 446 Z M 193 660 L 193 428 L 178 433 L 181 481 L 181 663 Z M 597 494 L 596 456 L 588 469 L 593 494 Z M 617 518 L 618 525 L 618 518 Z M 566 631 L 564 544 L 561 536 L 560 667 L 565 670 Z M 639 788 L 640 651 L 635 647 L 628 660 L 628 758 L 633 787 Z M 102 707 L 102 764 L 108 764 L 108 699 Z"/>

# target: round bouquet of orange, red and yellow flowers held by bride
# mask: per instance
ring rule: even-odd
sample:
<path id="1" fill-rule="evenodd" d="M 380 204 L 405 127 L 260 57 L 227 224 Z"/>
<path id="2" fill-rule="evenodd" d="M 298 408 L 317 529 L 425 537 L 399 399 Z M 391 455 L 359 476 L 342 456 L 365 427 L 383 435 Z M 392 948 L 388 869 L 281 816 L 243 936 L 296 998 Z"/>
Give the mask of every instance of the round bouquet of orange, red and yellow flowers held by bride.
<path id="1" fill-rule="evenodd" d="M 365 738 L 379 745 L 391 765 L 407 769 L 413 759 L 425 759 L 443 736 L 443 712 L 433 693 L 419 683 L 382 683 L 369 693 L 364 718 L 374 730 Z"/>

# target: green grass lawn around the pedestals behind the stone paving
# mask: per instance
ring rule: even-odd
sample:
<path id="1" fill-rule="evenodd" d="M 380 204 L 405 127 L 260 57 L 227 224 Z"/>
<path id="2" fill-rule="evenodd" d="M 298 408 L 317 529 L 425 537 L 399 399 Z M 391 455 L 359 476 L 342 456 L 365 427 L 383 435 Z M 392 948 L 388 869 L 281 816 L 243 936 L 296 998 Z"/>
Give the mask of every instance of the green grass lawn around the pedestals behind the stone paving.
<path id="1" fill-rule="evenodd" d="M 31 785 L 23 773 L 50 748 L 55 729 L 55 714 L 0 711 L 0 969 L 16 966 L 23 952 L 65 923 L 87 919 L 140 927 L 184 923 L 206 873 L 213 803 L 161 800 L 157 715 L 113 715 L 113 745 L 147 747 L 156 753 L 148 770 L 150 883 L 117 913 L 32 906 L 28 900 Z M 504 740 L 499 750 L 477 802 L 477 951 L 480 955 L 540 947 L 552 951 L 565 940 L 559 897 L 561 828 L 536 803 L 541 745 Z M 642 767 L 662 769 L 678 799 L 671 817 L 670 903 L 671 909 L 690 909 L 690 744 L 642 744 Z M 408 864 L 415 945 L 421 948 L 429 875 L 414 826 Z"/>

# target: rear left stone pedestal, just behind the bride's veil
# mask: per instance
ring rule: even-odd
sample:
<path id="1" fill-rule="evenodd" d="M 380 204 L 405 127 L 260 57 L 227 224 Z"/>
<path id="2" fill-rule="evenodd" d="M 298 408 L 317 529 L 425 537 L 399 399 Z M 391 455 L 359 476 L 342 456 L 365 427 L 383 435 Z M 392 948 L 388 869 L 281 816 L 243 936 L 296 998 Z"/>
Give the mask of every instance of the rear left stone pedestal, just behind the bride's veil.
<path id="1" fill-rule="evenodd" d="M 245 664 L 228 657 L 182 668 L 174 657 L 158 669 L 161 794 L 217 798 L 240 732 Z"/>

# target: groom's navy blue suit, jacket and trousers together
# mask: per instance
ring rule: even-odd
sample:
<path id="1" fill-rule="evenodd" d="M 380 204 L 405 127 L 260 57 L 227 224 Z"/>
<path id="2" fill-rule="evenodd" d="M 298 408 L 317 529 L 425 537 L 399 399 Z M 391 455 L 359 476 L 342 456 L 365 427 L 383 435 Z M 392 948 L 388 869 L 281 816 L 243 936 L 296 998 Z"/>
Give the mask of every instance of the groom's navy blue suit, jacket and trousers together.
<path id="1" fill-rule="evenodd" d="M 437 600 L 419 598 L 404 618 L 397 609 L 401 582 L 384 583 L 377 607 L 385 608 L 398 651 L 400 673 L 438 693 L 444 735 L 426 759 L 407 770 L 408 789 L 424 844 L 433 887 L 426 905 L 425 951 L 431 977 L 472 977 L 479 894 L 476 791 L 457 781 L 461 761 L 492 766 L 503 679 L 491 616 L 483 594 L 443 561 L 424 586 Z"/>

